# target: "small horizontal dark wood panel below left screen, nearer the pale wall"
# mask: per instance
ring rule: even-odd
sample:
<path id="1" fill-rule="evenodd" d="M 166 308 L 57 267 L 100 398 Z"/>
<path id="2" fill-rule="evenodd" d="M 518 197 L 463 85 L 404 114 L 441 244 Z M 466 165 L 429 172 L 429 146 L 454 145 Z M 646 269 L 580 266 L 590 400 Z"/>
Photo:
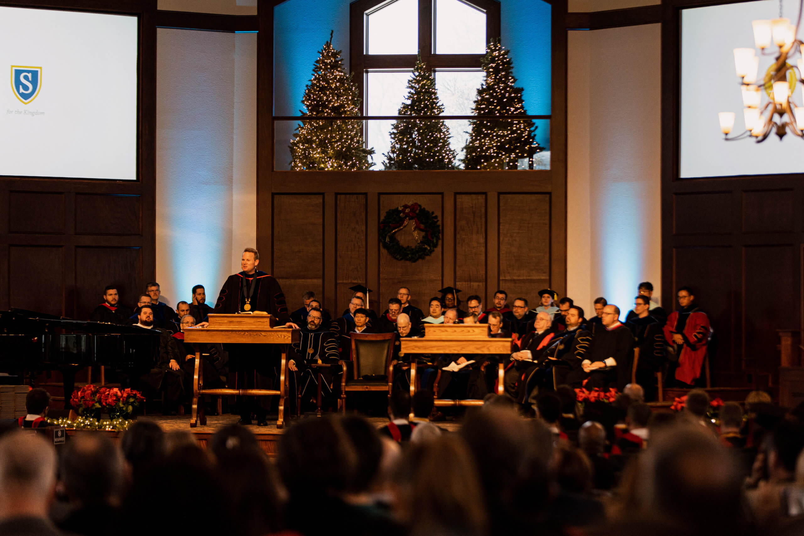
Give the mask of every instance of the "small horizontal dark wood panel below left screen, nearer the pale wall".
<path id="1" fill-rule="evenodd" d="M 76 235 L 141 235 L 139 195 L 76 194 Z"/>

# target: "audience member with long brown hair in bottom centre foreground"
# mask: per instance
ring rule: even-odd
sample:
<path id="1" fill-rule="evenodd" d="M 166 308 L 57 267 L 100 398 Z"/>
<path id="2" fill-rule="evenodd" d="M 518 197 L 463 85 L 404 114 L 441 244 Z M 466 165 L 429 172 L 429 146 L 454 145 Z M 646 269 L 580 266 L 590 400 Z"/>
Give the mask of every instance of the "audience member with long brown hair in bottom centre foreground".
<path id="1" fill-rule="evenodd" d="M 398 470 L 396 514 L 409 534 L 485 536 L 489 518 L 470 448 L 459 436 L 412 445 Z"/>

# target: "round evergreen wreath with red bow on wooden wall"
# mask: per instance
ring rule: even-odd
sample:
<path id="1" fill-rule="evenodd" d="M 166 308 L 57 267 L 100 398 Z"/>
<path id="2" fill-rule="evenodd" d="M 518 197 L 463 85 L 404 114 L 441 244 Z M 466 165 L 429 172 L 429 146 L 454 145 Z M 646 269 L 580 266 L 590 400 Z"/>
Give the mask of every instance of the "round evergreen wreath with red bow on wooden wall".
<path id="1" fill-rule="evenodd" d="M 416 246 L 403 246 L 396 239 L 396 233 L 408 226 L 416 239 Z M 422 208 L 419 203 L 392 208 L 379 223 L 379 243 L 396 260 L 415 263 L 424 259 L 436 250 L 440 239 L 438 216 Z"/>

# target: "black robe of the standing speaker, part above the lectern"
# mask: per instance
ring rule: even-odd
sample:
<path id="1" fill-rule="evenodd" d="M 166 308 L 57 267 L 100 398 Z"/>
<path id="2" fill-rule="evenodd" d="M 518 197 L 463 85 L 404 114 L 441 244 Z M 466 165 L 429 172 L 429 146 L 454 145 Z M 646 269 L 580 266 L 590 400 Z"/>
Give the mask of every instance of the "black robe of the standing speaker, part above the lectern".
<path id="1" fill-rule="evenodd" d="M 220 289 L 218 301 L 215 303 L 214 313 L 241 313 L 244 312 L 246 296 L 244 295 L 243 280 L 251 281 L 256 285 L 252 292 L 249 311 L 264 311 L 277 319 L 277 325 L 285 325 L 290 321 L 288 307 L 285 304 L 285 294 L 279 286 L 279 281 L 269 274 L 257 270 L 253 274 L 246 272 L 229 276 Z"/>

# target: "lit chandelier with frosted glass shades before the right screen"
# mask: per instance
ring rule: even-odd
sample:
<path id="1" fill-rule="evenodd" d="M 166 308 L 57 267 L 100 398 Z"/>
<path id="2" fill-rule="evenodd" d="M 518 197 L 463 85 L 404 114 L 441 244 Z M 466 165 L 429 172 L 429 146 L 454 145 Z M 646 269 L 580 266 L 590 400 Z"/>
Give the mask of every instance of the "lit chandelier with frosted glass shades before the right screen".
<path id="1" fill-rule="evenodd" d="M 741 79 L 740 89 L 743 95 L 743 117 L 745 130 L 732 137 L 728 134 L 734 128 L 733 112 L 720 112 L 720 131 L 727 141 L 753 137 L 757 143 L 765 141 L 775 132 L 781 140 L 786 133 L 804 137 L 804 106 L 797 106 L 793 100 L 797 84 L 802 84 L 804 99 L 804 43 L 798 39 L 798 27 L 802 21 L 804 0 L 799 2 L 798 21 L 795 26 L 789 18 L 781 17 L 781 0 L 779 0 L 779 18 L 753 21 L 754 44 L 760 55 L 775 56 L 776 61 L 765 72 L 762 80 L 757 82 L 759 71 L 759 55 L 753 48 L 734 49 L 734 67 Z M 773 43 L 773 47 L 771 44 Z M 798 76 L 788 60 L 798 52 Z M 767 100 L 763 99 L 765 93 Z M 765 104 L 763 104 L 765 100 Z M 804 102 L 802 102 L 804 104 Z"/>

